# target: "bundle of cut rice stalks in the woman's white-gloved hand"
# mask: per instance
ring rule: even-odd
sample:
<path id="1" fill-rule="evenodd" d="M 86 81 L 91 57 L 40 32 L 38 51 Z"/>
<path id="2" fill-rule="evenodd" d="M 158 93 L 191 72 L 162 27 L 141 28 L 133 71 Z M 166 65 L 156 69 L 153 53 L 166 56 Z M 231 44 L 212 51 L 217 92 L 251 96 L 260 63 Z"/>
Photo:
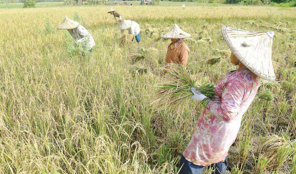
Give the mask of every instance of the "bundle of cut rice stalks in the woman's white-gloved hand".
<path id="1" fill-rule="evenodd" d="M 173 109 L 177 113 L 183 110 L 188 99 L 193 95 L 190 88 L 194 87 L 207 97 L 215 95 L 215 86 L 211 84 L 197 85 L 190 78 L 187 70 L 180 65 L 171 65 L 166 69 L 165 83 L 157 86 L 152 105 L 159 109 Z"/>

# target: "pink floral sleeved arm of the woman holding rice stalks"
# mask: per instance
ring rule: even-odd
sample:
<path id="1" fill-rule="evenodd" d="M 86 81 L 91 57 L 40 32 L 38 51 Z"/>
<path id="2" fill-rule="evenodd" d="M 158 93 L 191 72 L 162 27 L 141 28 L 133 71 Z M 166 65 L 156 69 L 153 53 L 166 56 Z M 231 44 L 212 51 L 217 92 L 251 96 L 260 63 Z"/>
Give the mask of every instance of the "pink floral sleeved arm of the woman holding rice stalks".
<path id="1" fill-rule="evenodd" d="M 240 105 L 244 97 L 245 88 L 240 81 L 235 79 L 227 82 L 225 85 L 222 92 L 221 103 L 210 100 L 207 102 L 206 108 L 215 115 L 215 117 L 225 122 L 231 122 L 241 109 Z"/>

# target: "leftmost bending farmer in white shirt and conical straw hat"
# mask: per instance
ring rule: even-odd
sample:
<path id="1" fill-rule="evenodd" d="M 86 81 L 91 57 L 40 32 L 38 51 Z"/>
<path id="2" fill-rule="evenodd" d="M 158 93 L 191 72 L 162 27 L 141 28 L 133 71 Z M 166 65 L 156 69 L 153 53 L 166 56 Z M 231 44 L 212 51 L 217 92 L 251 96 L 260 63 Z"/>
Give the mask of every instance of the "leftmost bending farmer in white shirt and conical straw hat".
<path id="1" fill-rule="evenodd" d="M 68 30 L 75 42 L 84 43 L 85 49 L 92 51 L 95 42 L 93 36 L 78 22 L 69 19 L 67 16 L 64 21 L 56 28 L 58 30 Z"/>

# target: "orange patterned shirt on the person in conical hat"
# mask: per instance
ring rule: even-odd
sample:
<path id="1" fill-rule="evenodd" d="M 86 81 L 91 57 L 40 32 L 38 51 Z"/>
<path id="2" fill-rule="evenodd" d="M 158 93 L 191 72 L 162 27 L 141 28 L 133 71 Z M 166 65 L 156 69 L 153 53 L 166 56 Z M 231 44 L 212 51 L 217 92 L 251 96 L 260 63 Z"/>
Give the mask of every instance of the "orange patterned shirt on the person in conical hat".
<path id="1" fill-rule="evenodd" d="M 171 48 L 171 45 L 173 43 L 169 44 L 168 51 L 166 52 L 165 56 L 165 63 L 166 64 L 181 64 L 184 67 L 187 65 L 188 56 L 190 53 L 190 50 L 188 46 L 182 42 L 177 46 L 177 48 Z"/>

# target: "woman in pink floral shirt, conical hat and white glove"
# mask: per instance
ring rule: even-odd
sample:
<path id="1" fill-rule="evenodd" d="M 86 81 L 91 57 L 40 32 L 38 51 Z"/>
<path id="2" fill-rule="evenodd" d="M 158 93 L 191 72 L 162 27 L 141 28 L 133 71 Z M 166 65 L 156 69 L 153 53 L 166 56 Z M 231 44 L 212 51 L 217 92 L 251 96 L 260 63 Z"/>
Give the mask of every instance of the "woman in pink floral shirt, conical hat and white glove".
<path id="1" fill-rule="evenodd" d="M 202 173 L 208 165 L 214 166 L 215 173 L 226 173 L 229 147 L 257 93 L 260 79 L 275 79 L 271 60 L 273 35 L 274 32 L 222 28 L 222 36 L 232 52 L 231 63 L 238 65 L 238 69 L 218 83 L 213 98 L 191 88 L 194 94 L 191 98 L 204 108 L 181 156 L 180 173 Z"/>

